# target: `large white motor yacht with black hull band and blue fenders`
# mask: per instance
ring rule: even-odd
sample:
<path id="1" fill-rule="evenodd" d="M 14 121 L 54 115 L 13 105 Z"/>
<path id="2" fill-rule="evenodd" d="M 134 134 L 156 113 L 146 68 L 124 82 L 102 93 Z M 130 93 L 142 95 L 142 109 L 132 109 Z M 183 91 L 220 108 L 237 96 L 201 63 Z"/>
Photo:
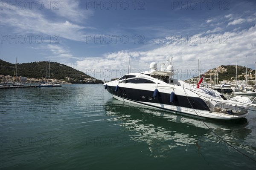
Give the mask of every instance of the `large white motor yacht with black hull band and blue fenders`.
<path id="1" fill-rule="evenodd" d="M 104 86 L 120 101 L 197 118 L 244 118 L 248 109 L 256 107 L 247 97 L 226 99 L 215 90 L 200 88 L 204 76 L 195 87 L 173 75 L 172 59 L 168 59 L 167 64 L 160 63 L 159 70 L 153 62 L 149 71 L 129 73 Z"/>

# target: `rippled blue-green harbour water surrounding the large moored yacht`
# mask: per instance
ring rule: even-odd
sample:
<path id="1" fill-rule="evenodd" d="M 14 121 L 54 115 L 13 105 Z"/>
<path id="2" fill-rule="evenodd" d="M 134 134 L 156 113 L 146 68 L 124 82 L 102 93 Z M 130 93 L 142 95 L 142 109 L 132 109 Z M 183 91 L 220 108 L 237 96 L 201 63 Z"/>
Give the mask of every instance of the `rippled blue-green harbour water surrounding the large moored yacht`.
<path id="1" fill-rule="evenodd" d="M 112 98 L 102 85 L 0 91 L 0 169 L 255 170 L 256 111 L 184 117 Z"/>

